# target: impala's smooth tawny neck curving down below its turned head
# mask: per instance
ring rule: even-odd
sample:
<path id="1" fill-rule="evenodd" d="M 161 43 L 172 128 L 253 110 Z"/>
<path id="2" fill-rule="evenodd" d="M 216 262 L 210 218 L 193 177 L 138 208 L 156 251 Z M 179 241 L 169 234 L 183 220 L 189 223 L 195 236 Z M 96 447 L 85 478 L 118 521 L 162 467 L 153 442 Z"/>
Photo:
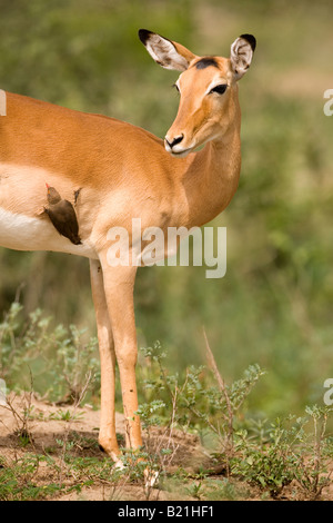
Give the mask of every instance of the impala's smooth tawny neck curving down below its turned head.
<path id="1" fill-rule="evenodd" d="M 225 209 L 238 188 L 240 169 L 240 126 L 235 124 L 222 139 L 195 154 L 183 177 L 188 227 L 206 224 Z"/>

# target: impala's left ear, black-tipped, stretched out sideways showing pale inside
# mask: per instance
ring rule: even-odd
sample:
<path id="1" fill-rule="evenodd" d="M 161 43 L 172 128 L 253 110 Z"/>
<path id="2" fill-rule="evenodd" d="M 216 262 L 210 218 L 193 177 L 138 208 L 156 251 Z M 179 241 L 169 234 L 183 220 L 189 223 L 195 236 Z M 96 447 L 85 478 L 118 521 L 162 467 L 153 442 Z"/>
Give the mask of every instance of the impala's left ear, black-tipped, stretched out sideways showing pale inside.
<path id="1" fill-rule="evenodd" d="M 139 38 L 145 46 L 150 56 L 157 63 L 164 67 L 164 69 L 185 71 L 191 61 L 196 58 L 195 55 L 189 51 L 184 46 L 172 42 L 168 40 L 168 38 L 148 31 L 147 29 L 139 30 Z"/>

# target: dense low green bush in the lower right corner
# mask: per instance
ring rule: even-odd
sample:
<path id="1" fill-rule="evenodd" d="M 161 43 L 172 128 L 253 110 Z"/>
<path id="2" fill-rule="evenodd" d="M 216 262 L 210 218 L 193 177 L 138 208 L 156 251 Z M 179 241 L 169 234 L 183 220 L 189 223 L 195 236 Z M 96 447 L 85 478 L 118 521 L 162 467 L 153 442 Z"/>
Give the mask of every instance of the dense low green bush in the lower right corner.
<path id="1" fill-rule="evenodd" d="M 332 408 L 314 405 L 306 407 L 306 417 L 276 420 L 270 424 L 265 440 L 251 437 L 246 430 L 239 431 L 232 474 L 269 489 L 273 496 L 295 481 L 307 499 L 319 499 L 330 484 L 332 472 L 329 463 L 333 446 L 326 434 L 331 412 Z"/>

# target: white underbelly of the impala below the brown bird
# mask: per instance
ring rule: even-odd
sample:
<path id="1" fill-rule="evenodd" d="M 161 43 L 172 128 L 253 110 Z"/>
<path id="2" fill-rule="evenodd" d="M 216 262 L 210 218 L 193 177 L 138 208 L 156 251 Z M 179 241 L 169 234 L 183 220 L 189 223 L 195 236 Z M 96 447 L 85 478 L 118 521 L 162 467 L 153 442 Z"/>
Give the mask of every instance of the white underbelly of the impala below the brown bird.
<path id="1" fill-rule="evenodd" d="M 46 218 L 10 213 L 0 207 L 0 246 L 16 250 L 53 250 L 98 258 L 87 243 L 73 245 Z"/>

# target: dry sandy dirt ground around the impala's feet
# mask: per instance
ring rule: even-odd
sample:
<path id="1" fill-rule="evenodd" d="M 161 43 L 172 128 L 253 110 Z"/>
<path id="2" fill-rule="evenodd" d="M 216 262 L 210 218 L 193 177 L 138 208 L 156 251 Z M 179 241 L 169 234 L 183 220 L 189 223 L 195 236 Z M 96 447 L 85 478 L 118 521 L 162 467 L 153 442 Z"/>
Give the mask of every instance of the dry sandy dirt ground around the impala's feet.
<path id="1" fill-rule="evenodd" d="M 211 482 L 221 482 L 225 477 L 223 466 L 219 467 L 212 464 L 196 436 L 174 431 L 172 433 L 172 441 L 170 441 L 164 430 L 157 427 L 149 436 L 149 441 L 145 440 L 145 444 L 150 444 L 153 447 L 160 446 L 165 448 L 169 446 L 171 448 L 172 460 L 171 456 L 167 456 L 163 464 L 164 470 L 167 470 L 167 478 L 169 477 L 167 483 L 164 482 L 164 484 L 150 490 L 148 493 L 143 481 L 135 481 L 133 477 L 129 477 L 127 473 L 120 476 L 117 482 L 111 482 L 102 477 L 102 475 L 93 475 L 87 468 L 87 477 L 93 478 L 91 484 L 79 490 L 71 490 L 71 485 L 75 483 L 75 472 L 71 471 L 70 474 L 68 473 L 64 461 L 65 444 L 69 444 L 69 454 L 73 457 L 94 458 L 105 462 L 105 454 L 99 448 L 97 443 L 100 412 L 89 406 L 80 408 L 68 405 L 50 405 L 37 399 L 32 395 L 12 397 L 10 405 L 11 409 L 8 406 L 3 407 L 0 405 L 0 470 L 1 467 L 9 467 L 20 463 L 20 460 L 24 456 L 37 454 L 51 456 L 53 465 L 50 466 L 49 463 L 41 461 L 29 478 L 34 485 L 41 486 L 41 489 L 46 487 L 44 485 L 58 483 L 64 486 L 59 490 L 56 489 L 52 494 L 47 494 L 42 499 L 58 501 L 205 500 L 206 497 L 202 492 L 196 497 L 193 494 L 195 485 L 200 487 L 201 480 L 198 475 L 200 471 L 212 467 Z M 19 437 L 18 431 L 22 430 L 22 417 L 27 407 L 30 411 L 29 420 L 23 434 Z M 26 431 L 28 434 L 24 434 Z M 117 414 L 117 433 L 120 440 L 124 438 L 125 425 L 121 414 Z M 182 471 L 181 475 L 179 474 L 180 470 Z M 82 474 L 80 475 L 80 481 L 82 481 Z M 283 495 L 280 496 L 280 500 L 304 499 L 300 493 L 295 495 L 295 486 L 291 484 L 283 490 Z M 243 501 L 273 501 L 268 493 L 265 494 L 258 487 L 238 481 L 233 481 L 232 493 L 229 499 L 232 499 L 232 496 Z M 214 497 L 211 500 L 214 500 Z M 221 495 L 218 500 L 221 500 Z M 323 491 L 322 500 L 333 500 L 332 484 Z"/>

